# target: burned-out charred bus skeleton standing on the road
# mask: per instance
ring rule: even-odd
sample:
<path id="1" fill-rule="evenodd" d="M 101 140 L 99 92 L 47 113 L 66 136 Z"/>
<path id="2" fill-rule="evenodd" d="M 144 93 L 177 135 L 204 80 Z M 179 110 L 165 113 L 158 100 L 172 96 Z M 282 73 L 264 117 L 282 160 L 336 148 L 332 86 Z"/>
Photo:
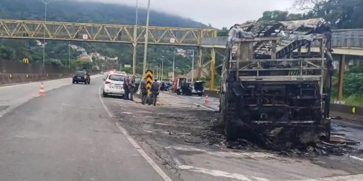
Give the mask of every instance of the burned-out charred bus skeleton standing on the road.
<path id="1" fill-rule="evenodd" d="M 276 147 L 329 139 L 330 39 L 323 19 L 234 25 L 220 100 L 227 140 Z"/>

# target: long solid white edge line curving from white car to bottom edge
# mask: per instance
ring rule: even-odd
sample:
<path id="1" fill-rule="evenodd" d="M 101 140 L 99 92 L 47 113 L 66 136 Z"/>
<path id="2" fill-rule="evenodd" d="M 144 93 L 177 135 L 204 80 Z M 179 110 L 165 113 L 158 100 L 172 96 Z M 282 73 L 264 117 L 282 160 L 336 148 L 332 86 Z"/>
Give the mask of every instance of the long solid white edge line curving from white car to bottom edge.
<path id="1" fill-rule="evenodd" d="M 103 83 L 101 84 L 101 86 L 98 89 L 98 93 L 99 93 L 99 100 L 101 100 L 102 106 L 103 108 L 106 110 L 107 114 L 109 115 L 110 118 L 113 117 L 112 113 L 110 112 L 110 110 L 106 107 L 105 103 L 102 100 L 101 97 L 101 87 L 102 87 Z M 121 130 L 122 134 L 125 135 L 125 137 L 127 138 L 127 140 L 129 140 L 129 142 L 132 144 L 132 146 L 134 146 L 134 148 L 140 153 L 140 155 L 142 157 L 144 157 L 144 159 L 147 161 L 147 163 L 149 163 L 151 165 L 152 168 L 154 168 L 154 170 L 156 172 L 158 172 L 158 174 L 163 178 L 163 180 L 165 181 L 172 181 L 171 178 L 158 166 L 158 164 L 155 163 L 154 160 L 152 160 L 146 153 L 144 150 L 142 150 L 142 148 L 135 142 L 134 139 L 131 138 L 131 136 L 129 135 L 129 133 L 118 123 L 115 123 L 117 125 L 117 127 Z"/>

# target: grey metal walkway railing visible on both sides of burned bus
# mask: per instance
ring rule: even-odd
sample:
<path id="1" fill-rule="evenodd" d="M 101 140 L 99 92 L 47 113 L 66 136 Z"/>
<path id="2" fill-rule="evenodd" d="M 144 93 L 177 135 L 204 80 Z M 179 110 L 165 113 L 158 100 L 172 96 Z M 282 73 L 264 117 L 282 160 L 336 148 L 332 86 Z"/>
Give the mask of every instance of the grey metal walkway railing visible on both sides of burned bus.
<path id="1" fill-rule="evenodd" d="M 363 29 L 332 30 L 332 34 L 333 47 L 363 48 Z M 202 45 L 226 45 L 227 39 L 228 37 L 203 38 Z"/>

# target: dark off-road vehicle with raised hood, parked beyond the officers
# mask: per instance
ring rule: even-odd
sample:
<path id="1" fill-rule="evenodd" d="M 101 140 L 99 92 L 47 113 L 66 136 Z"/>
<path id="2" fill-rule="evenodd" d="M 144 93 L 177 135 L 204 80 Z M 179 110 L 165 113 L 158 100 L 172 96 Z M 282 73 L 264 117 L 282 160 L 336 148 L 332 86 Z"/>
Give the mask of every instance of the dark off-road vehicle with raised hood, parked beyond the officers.
<path id="1" fill-rule="evenodd" d="M 181 86 L 176 90 L 176 94 L 184 94 L 184 95 L 198 95 L 203 96 L 204 93 L 204 81 L 196 81 L 196 82 L 184 82 L 181 83 Z"/>

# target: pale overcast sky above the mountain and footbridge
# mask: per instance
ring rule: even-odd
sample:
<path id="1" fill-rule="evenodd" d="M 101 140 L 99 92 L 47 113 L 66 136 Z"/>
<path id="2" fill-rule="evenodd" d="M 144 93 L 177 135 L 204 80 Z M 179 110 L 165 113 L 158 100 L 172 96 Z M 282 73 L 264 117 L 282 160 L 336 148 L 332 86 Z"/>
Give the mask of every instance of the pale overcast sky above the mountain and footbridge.
<path id="1" fill-rule="evenodd" d="M 92 0 L 136 5 L 136 0 Z M 288 10 L 294 0 L 151 0 L 151 9 L 192 18 L 215 28 L 256 20 L 266 10 Z M 147 7 L 147 0 L 138 0 Z"/>

